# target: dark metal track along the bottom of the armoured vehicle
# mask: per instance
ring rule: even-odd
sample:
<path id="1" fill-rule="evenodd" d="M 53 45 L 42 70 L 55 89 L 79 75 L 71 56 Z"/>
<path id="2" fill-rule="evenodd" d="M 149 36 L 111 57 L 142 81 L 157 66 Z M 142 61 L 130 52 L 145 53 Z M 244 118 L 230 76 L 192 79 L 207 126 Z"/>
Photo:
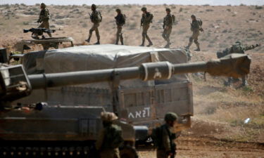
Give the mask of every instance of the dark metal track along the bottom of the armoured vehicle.
<path id="1" fill-rule="evenodd" d="M 0 157 L 94 157 L 94 144 L 37 141 L 34 143 L 0 141 Z"/>

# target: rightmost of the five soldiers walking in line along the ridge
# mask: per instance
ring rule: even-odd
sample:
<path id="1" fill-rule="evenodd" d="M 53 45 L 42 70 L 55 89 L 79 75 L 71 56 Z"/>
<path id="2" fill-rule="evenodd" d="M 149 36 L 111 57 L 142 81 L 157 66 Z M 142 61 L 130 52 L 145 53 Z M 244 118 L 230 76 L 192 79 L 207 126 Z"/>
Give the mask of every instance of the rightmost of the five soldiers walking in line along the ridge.
<path id="1" fill-rule="evenodd" d="M 188 44 L 188 46 L 186 46 L 186 48 L 189 49 L 192 42 L 194 41 L 194 44 L 196 44 L 196 46 L 197 46 L 196 50 L 194 50 L 194 51 L 200 51 L 200 44 L 198 42 L 198 37 L 199 37 L 200 31 L 203 32 L 203 28 L 201 27 L 202 24 L 203 24 L 203 22 L 201 20 L 196 20 L 195 15 L 191 15 L 191 32 L 192 32 L 192 35 L 189 38 L 189 44 Z"/>

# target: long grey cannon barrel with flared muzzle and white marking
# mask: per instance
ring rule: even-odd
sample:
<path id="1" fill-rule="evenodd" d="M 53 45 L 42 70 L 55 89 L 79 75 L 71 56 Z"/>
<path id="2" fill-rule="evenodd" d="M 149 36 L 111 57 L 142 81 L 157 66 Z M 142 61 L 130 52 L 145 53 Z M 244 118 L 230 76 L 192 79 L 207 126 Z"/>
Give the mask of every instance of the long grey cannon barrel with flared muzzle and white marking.
<path id="1" fill-rule="evenodd" d="M 230 54 L 224 58 L 208 62 L 192 62 L 173 65 L 170 62 L 148 62 L 139 67 L 125 67 L 108 70 L 81 72 L 62 72 L 54 74 L 29 75 L 32 88 L 89 84 L 100 81 L 112 81 L 114 78 L 170 79 L 173 74 L 208 72 L 213 76 L 241 77 L 249 73 L 251 58 L 244 54 Z"/>

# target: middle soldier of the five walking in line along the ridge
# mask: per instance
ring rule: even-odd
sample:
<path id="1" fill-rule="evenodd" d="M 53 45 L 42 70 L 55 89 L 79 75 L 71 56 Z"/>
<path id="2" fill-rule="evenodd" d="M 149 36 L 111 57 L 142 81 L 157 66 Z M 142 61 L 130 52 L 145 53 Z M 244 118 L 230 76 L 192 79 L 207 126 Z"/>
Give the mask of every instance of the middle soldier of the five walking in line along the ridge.
<path id="1" fill-rule="evenodd" d="M 150 23 L 152 22 L 153 15 L 149 13 L 148 11 L 146 11 L 146 7 L 142 8 L 142 12 L 143 13 L 142 13 L 142 19 L 141 19 L 140 26 L 143 27 L 143 30 L 142 30 L 142 44 L 140 46 L 145 45 L 145 39 L 149 41 L 148 46 L 152 46 L 153 43 L 151 39 L 149 39 L 148 29 L 149 29 Z"/>

